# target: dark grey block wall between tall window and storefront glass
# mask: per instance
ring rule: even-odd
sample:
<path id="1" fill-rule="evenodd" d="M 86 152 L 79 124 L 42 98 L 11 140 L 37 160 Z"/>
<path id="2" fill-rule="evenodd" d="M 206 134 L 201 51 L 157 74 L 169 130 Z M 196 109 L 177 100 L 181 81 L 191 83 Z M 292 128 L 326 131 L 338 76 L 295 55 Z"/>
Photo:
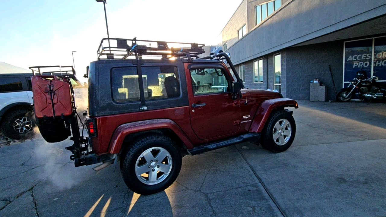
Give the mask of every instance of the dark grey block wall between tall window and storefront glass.
<path id="1" fill-rule="evenodd" d="M 327 99 L 335 99 L 328 65 L 331 65 L 337 91 L 342 88 L 343 41 L 290 47 L 282 51 L 282 68 L 283 59 L 286 75 L 282 75 L 282 81 L 284 78 L 288 98 L 310 100 L 310 81 L 319 78 L 327 86 Z"/>

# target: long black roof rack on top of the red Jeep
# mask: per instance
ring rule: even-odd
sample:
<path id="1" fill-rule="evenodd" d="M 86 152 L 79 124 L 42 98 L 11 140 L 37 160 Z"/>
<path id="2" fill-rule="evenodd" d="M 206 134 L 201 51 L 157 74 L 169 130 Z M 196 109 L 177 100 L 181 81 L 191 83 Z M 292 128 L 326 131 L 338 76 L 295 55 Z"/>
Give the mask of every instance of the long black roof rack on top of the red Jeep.
<path id="1" fill-rule="evenodd" d="M 103 42 L 106 44 L 107 41 L 109 42 L 108 45 L 103 46 Z M 151 44 L 151 42 L 155 44 Z M 129 46 L 129 44 L 131 45 Z M 178 48 L 174 48 L 173 44 L 176 44 Z M 185 47 L 185 45 L 187 46 Z M 190 48 L 188 48 L 189 46 Z M 103 38 L 97 54 L 98 59 L 126 59 L 132 55 L 135 59 L 141 59 L 144 56 L 158 56 L 162 59 L 172 57 L 191 59 L 192 57 L 198 58 L 199 54 L 205 53 L 202 49 L 203 46 L 205 44 L 137 40 L 136 37 L 134 39 Z"/>

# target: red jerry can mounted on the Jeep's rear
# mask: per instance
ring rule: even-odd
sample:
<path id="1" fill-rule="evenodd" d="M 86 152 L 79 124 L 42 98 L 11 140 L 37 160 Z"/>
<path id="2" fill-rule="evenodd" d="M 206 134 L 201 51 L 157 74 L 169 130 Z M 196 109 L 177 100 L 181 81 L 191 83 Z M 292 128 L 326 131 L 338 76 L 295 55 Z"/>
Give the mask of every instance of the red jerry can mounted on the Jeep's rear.
<path id="1" fill-rule="evenodd" d="M 32 76 L 35 115 L 63 117 L 73 114 L 70 85 L 54 75 Z"/>

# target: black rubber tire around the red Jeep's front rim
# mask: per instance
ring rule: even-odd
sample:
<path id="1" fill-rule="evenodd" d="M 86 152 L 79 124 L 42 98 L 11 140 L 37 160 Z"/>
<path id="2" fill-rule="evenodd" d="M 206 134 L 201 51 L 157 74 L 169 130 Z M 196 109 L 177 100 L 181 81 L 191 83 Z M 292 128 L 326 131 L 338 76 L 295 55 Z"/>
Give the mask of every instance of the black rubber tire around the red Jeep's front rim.
<path id="1" fill-rule="evenodd" d="M 276 144 L 273 138 L 273 134 L 275 132 L 274 131 L 275 124 L 281 119 L 288 120 L 291 128 L 291 134 L 290 136 L 288 136 L 289 139 L 283 145 Z M 284 129 L 288 130 L 288 127 L 286 128 L 286 126 L 284 126 Z M 285 110 L 273 110 L 264 126 L 263 131 L 261 132 L 260 144 L 268 151 L 272 151 L 275 153 L 282 152 L 287 150 L 289 146 L 291 146 L 293 139 L 295 138 L 295 134 L 296 134 L 296 124 L 295 124 L 295 119 L 293 119 L 291 113 Z M 285 139 L 287 139 L 286 136 L 284 137 Z"/>

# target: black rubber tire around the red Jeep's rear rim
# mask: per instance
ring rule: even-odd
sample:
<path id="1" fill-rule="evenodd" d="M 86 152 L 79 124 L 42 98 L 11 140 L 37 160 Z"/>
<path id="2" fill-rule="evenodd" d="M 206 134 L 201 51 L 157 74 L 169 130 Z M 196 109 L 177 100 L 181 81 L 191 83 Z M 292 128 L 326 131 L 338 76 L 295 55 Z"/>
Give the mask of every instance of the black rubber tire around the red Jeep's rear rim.
<path id="1" fill-rule="evenodd" d="M 163 181 L 150 185 L 143 183 L 139 180 L 140 178 L 137 178 L 135 174 L 135 164 L 141 154 L 152 147 L 166 149 L 172 158 L 173 164 L 171 165 L 168 176 L 166 176 Z M 141 195 L 149 195 L 165 190 L 176 180 L 181 170 L 182 157 L 179 147 L 172 139 L 162 134 L 150 134 L 135 139 L 130 146 L 123 151 L 122 155 L 124 156 L 121 158 L 120 168 L 123 179 L 130 190 Z"/>

